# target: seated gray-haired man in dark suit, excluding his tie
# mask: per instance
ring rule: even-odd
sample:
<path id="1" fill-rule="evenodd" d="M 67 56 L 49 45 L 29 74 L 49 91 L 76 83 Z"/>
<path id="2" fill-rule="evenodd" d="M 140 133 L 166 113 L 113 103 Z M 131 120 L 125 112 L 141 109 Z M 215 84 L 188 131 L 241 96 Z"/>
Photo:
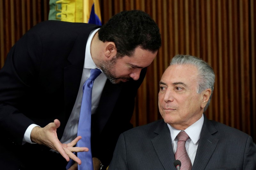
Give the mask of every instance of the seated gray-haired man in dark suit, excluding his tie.
<path id="1" fill-rule="evenodd" d="M 180 131 L 190 137 L 185 146 L 192 170 L 255 170 L 252 137 L 208 120 L 204 114 L 214 82 L 214 71 L 203 60 L 174 56 L 159 83 L 158 106 L 163 120 L 122 133 L 108 170 L 176 169 L 173 162 Z"/>

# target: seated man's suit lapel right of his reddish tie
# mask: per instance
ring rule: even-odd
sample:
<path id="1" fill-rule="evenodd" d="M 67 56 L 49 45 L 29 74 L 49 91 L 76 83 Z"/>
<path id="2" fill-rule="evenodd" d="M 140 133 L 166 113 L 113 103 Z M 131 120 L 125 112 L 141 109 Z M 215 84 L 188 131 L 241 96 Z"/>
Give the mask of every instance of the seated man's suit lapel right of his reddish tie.
<path id="1" fill-rule="evenodd" d="M 204 115 L 204 124 L 199 139 L 196 157 L 192 169 L 204 169 L 214 152 L 219 139 L 212 136 L 217 130 Z"/>

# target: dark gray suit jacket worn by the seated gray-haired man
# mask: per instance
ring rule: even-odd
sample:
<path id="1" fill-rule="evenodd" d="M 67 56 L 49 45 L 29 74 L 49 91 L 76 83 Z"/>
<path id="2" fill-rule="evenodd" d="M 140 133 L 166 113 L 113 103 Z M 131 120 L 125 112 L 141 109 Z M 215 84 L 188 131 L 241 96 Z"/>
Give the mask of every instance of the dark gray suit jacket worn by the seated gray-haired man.
<path id="1" fill-rule="evenodd" d="M 175 170 L 170 130 L 164 120 L 122 133 L 108 170 Z M 182 168 L 182 163 L 181 163 Z M 204 115 L 192 170 L 256 169 L 252 137 Z"/>

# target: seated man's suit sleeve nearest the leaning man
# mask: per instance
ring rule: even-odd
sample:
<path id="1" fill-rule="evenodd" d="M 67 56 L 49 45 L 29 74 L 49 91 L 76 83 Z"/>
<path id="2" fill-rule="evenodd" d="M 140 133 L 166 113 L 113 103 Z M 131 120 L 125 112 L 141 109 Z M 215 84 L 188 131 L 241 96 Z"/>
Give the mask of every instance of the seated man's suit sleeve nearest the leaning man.
<path id="1" fill-rule="evenodd" d="M 124 135 L 121 134 L 118 138 L 116 149 L 114 151 L 113 159 L 110 162 L 108 170 L 128 170 L 126 146 Z"/>

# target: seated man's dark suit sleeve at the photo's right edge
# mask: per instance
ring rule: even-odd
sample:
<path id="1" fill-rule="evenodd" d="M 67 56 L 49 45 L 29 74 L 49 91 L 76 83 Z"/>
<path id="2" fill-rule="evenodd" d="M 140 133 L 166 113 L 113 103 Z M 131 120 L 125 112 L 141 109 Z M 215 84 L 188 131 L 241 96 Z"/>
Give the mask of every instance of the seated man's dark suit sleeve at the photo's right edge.
<path id="1" fill-rule="evenodd" d="M 251 136 L 247 138 L 245 145 L 243 169 L 256 169 L 256 147 Z"/>

